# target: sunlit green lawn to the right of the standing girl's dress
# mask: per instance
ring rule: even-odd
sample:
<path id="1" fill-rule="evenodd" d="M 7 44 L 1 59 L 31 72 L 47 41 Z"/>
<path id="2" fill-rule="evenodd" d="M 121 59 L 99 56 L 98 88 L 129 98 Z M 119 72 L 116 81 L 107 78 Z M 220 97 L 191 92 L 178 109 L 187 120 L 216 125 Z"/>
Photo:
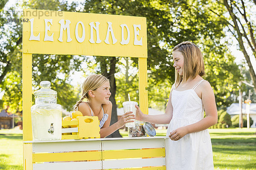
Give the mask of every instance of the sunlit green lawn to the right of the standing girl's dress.
<path id="1" fill-rule="evenodd" d="M 256 170 L 255 128 L 209 129 L 216 170 Z"/>

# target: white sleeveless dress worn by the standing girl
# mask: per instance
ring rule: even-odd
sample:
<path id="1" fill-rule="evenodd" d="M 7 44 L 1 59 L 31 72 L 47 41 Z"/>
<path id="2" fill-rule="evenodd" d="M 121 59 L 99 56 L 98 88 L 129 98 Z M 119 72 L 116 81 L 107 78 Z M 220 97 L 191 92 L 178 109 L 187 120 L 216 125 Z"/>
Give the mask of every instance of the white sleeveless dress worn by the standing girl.
<path id="1" fill-rule="evenodd" d="M 172 91 L 173 116 L 166 136 L 172 130 L 194 124 L 204 118 L 202 99 L 195 93 L 195 88 Z M 167 170 L 213 170 L 212 143 L 208 130 L 189 133 L 177 141 L 167 139 Z"/>

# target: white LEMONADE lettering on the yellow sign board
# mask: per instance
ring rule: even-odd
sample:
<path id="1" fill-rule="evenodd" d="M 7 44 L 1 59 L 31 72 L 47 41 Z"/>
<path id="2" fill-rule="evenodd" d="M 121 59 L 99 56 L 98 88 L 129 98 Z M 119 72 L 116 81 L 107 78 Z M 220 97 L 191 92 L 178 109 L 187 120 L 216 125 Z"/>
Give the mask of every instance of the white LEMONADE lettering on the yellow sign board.
<path id="1" fill-rule="evenodd" d="M 38 35 L 35 35 L 34 34 L 34 18 L 31 18 L 29 19 L 30 21 L 30 37 L 29 37 L 29 41 L 32 41 L 32 40 L 35 40 L 35 41 L 40 41 L 40 33 L 38 33 Z M 70 20 L 64 20 L 64 19 L 61 19 L 58 21 L 58 23 L 60 24 L 60 30 L 59 30 L 59 37 L 58 37 L 58 41 L 59 42 L 63 42 L 63 31 L 66 31 L 67 32 L 67 42 L 71 42 L 73 39 L 71 38 L 70 36 L 70 32 L 71 31 L 75 31 L 75 38 L 78 42 L 82 43 L 84 42 L 85 40 L 85 27 L 84 27 L 84 23 L 82 21 L 78 21 L 76 23 L 76 28 L 75 30 L 70 30 L 70 24 L 71 24 L 71 21 Z M 110 37 L 110 34 L 111 34 L 111 38 L 112 38 L 112 44 L 115 44 L 118 40 L 116 39 L 115 37 L 115 32 L 112 28 L 112 23 L 107 21 L 108 23 L 108 27 L 106 28 L 106 37 L 105 37 L 105 40 L 104 42 L 106 44 L 110 44 L 109 42 L 109 37 Z M 51 35 L 49 35 L 49 31 L 51 31 L 51 26 L 52 26 L 52 19 L 44 19 L 44 25 L 45 25 L 45 30 L 44 30 L 44 41 L 54 41 L 53 40 L 53 36 L 55 36 L 54 33 L 52 33 Z M 99 34 L 99 27 L 100 27 L 100 23 L 99 22 L 90 22 L 89 23 L 90 25 L 90 40 L 89 42 L 94 44 L 94 43 L 101 43 L 102 40 L 100 40 L 100 34 Z M 81 35 L 79 35 L 78 33 L 78 29 L 79 27 L 82 28 L 82 33 Z M 120 40 L 120 44 L 122 45 L 127 45 L 129 42 L 130 42 L 130 29 L 128 28 L 128 26 L 126 24 L 121 24 L 120 25 L 120 29 L 121 29 L 121 40 Z M 133 27 L 134 27 L 134 45 L 143 45 L 143 42 L 142 42 L 142 37 L 140 38 L 140 40 L 137 39 L 137 36 L 140 35 L 140 30 L 141 30 L 141 25 L 136 25 L 136 24 L 133 24 Z M 96 31 L 96 42 L 93 40 L 93 30 Z M 125 39 L 125 36 L 124 36 L 124 32 L 126 31 L 127 33 L 127 38 Z"/>

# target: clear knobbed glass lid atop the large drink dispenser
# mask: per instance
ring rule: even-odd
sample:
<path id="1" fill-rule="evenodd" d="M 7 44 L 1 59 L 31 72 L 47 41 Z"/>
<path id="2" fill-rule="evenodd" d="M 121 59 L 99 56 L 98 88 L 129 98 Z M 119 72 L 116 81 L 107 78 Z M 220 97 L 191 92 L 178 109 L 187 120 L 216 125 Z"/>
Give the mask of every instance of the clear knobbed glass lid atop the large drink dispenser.
<path id="1" fill-rule="evenodd" d="M 54 91 L 51 89 L 51 82 L 49 81 L 41 81 L 40 82 L 41 88 L 34 92 L 35 97 L 36 96 L 56 96 L 57 91 Z"/>

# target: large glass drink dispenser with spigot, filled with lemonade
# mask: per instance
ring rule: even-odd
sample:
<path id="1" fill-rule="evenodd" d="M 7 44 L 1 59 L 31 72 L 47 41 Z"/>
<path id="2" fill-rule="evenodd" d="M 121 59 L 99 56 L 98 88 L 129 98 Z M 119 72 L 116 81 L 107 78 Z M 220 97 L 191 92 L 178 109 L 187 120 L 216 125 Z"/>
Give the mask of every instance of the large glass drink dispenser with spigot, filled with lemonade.
<path id="1" fill-rule="evenodd" d="M 31 107 L 33 140 L 61 139 L 61 105 L 57 104 L 57 91 L 50 89 L 49 81 L 40 82 L 41 89 L 34 92 L 35 105 Z"/>

